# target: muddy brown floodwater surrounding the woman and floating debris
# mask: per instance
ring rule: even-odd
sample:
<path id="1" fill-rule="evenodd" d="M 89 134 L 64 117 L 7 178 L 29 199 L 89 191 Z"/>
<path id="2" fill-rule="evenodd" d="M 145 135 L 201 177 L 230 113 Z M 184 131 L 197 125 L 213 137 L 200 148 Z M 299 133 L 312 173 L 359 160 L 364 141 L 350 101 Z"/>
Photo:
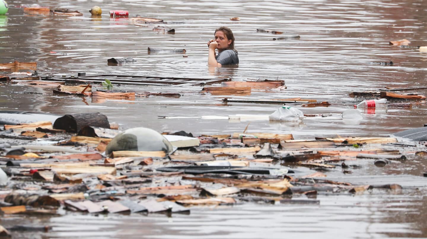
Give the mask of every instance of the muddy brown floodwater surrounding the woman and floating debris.
<path id="1" fill-rule="evenodd" d="M 410 46 L 427 45 L 427 9 L 424 0 L 9 0 L 9 12 L 0 16 L 0 62 L 37 61 L 43 75 L 124 74 L 188 78 L 281 79 L 284 91 L 252 91 L 234 99 L 313 98 L 330 107 L 302 109 L 306 114 L 340 113 L 360 99 L 348 93 L 384 86 L 424 86 L 427 53 L 416 48 L 389 46 L 390 40 L 408 39 Z M 21 4 L 40 4 L 78 10 L 83 17 L 60 17 L 24 12 Z M 92 6 L 102 18 L 91 18 Z M 110 10 L 129 10 L 130 16 L 160 18 L 175 34 L 154 32 L 158 24 L 134 26 L 110 18 Z M 240 17 L 231 21 L 230 17 Z M 214 29 L 229 26 L 236 38 L 240 65 L 209 69 L 206 43 Z M 257 32 L 270 29 L 283 35 Z M 300 35 L 300 39 L 273 40 Z M 147 54 L 147 47 L 184 48 L 182 54 Z M 137 60 L 108 66 L 108 58 Z M 392 61 L 393 66 L 377 63 Z M 95 86 L 100 88 L 101 86 Z M 92 103 L 59 97 L 51 89 L 0 85 L 0 110 L 49 112 L 57 115 L 102 112 L 122 129 L 144 126 L 159 132 L 185 130 L 194 135 L 240 132 L 249 121 L 228 122 L 201 118 L 159 119 L 158 116 L 271 114 L 278 105 L 233 103 L 227 96 L 201 95 L 202 87 L 114 86 L 149 92 L 180 92 L 181 98 L 137 98 L 135 101 Z M 32 92 L 33 94 L 29 94 Z M 426 94 L 425 90 L 418 91 Z M 230 97 L 230 96 L 228 96 Z M 384 136 L 421 127 L 426 104 L 413 109 L 363 112 L 360 124 L 343 124 L 339 117 L 306 118 L 301 124 L 251 121 L 249 132 L 292 133 L 295 139 L 314 136 Z M 358 162 L 360 175 L 425 172 L 425 158 L 413 157 L 375 168 Z M 342 176 L 342 172 L 333 172 Z M 399 183 L 399 182 L 396 182 Z M 422 186 L 422 185 L 420 185 Z M 91 216 L 64 213 L 53 218 L 8 216 L 4 226 L 24 221 L 51 225 L 49 233 L 23 233 L 20 238 L 383 238 L 426 237 L 426 188 L 404 187 L 401 194 L 372 190 L 362 195 L 320 193 L 319 205 L 244 204 L 232 207 L 193 207 L 190 215 Z M 18 238 L 18 237 L 17 237 Z"/>

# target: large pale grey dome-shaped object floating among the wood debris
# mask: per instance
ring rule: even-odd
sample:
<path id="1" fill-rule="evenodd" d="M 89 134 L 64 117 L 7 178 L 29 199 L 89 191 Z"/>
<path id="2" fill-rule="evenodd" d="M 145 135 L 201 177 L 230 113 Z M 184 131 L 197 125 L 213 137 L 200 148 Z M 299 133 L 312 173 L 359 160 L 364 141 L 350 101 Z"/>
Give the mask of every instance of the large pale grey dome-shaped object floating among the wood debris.
<path id="1" fill-rule="evenodd" d="M 172 144 L 159 132 L 137 127 L 125 130 L 116 135 L 105 149 L 107 155 L 113 151 L 164 151 L 173 152 Z"/>

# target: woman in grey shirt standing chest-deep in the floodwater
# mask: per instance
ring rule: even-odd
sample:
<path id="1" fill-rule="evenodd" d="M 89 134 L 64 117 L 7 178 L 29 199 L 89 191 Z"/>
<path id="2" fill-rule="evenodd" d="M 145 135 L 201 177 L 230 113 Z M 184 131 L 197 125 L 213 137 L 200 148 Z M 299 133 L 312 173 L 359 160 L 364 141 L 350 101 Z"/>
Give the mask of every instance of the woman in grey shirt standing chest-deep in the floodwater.
<path id="1" fill-rule="evenodd" d="M 239 63 L 237 51 L 234 49 L 234 35 L 226 26 L 215 29 L 215 40 L 208 41 L 208 65 L 221 67 Z M 215 49 L 218 49 L 216 55 Z"/>

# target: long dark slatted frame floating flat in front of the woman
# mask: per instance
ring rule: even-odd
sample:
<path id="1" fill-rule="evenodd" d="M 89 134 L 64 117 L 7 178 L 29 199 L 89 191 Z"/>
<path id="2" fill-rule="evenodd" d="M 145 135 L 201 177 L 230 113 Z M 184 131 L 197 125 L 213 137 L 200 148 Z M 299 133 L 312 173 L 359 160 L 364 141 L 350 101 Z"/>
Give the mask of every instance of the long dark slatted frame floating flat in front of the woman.
<path id="1" fill-rule="evenodd" d="M 208 79 L 208 78 L 175 78 L 175 77 L 157 77 L 142 75 L 85 75 L 78 77 L 61 77 L 55 78 L 55 81 L 79 80 L 82 82 L 102 83 L 108 79 L 113 84 L 135 84 L 135 85 L 153 85 L 153 86 L 199 86 L 221 83 L 229 79 Z"/>

